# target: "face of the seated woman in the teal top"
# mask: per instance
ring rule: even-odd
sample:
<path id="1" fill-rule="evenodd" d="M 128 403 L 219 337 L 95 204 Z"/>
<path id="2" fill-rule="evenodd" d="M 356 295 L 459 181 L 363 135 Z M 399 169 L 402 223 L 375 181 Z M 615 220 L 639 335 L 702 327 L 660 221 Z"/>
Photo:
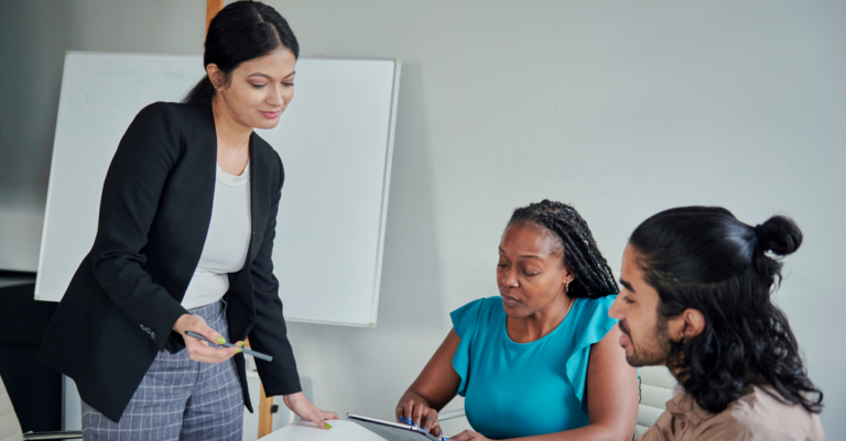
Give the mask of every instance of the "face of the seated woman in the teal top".
<path id="1" fill-rule="evenodd" d="M 561 323 L 571 304 L 564 286 L 574 276 L 563 264 L 564 246 L 533 223 L 511 224 L 499 244 L 497 285 L 512 340 L 538 340 Z"/>

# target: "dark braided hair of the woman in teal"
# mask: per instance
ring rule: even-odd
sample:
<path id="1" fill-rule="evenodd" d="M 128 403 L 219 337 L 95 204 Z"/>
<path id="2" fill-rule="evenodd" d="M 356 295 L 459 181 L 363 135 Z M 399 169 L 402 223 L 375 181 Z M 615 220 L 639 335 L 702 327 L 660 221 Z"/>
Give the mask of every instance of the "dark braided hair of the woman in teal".
<path id="1" fill-rule="evenodd" d="M 562 262 L 575 276 L 567 290 L 571 297 L 603 297 L 620 291 L 587 222 L 575 208 L 544 199 L 514 210 L 506 229 L 527 222 L 549 230 L 564 246 Z"/>

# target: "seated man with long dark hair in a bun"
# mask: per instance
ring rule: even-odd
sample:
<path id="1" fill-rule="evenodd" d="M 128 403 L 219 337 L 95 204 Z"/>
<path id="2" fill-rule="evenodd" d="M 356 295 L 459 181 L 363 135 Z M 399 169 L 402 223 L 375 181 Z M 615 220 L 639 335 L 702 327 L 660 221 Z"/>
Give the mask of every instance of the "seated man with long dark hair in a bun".
<path id="1" fill-rule="evenodd" d="M 825 440 L 823 393 L 771 300 L 790 218 L 740 222 L 718 207 L 660 212 L 631 234 L 609 315 L 632 366 L 665 365 L 681 393 L 639 440 Z"/>

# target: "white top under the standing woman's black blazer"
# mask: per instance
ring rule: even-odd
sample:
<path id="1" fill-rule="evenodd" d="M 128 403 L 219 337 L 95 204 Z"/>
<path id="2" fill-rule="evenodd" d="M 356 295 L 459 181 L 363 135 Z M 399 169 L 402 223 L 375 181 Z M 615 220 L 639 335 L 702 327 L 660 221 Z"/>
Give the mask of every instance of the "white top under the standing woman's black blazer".
<path id="1" fill-rule="evenodd" d="M 230 175 L 217 166 L 215 201 L 206 243 L 197 269 L 182 299 L 185 309 L 220 300 L 229 290 L 229 273 L 243 267 L 250 245 L 250 163 L 241 176 Z"/>

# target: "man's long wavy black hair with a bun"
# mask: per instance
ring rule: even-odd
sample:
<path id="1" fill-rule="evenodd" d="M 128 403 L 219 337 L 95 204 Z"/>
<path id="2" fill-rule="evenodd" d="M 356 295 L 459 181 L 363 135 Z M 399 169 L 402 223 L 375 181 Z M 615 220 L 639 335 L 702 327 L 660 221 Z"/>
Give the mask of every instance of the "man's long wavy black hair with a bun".
<path id="1" fill-rule="evenodd" d="M 717 414 L 749 385 L 772 386 L 787 401 L 822 410 L 823 393 L 807 377 L 788 318 L 770 296 L 781 262 L 802 243 L 790 218 L 751 227 L 719 207 L 683 207 L 641 223 L 629 244 L 660 297 L 660 319 L 696 309 L 698 335 L 670 342 L 668 367 L 705 410 Z"/>

